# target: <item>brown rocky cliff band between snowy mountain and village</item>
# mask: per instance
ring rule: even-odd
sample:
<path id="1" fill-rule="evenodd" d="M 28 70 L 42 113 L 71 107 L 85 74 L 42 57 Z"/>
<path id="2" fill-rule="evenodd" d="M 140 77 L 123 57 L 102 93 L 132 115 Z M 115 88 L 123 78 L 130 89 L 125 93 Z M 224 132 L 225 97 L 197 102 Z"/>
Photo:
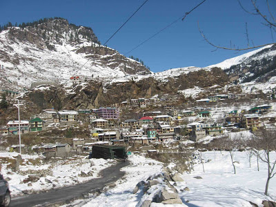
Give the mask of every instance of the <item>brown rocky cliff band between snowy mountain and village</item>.
<path id="1" fill-rule="evenodd" d="M 213 68 L 210 71 L 199 70 L 175 78 L 168 77 L 164 81 L 153 77 L 108 85 L 97 81 L 86 81 L 81 84 L 75 83 L 70 90 L 55 86 L 38 86 L 26 93 L 25 100 L 32 103 L 30 106 L 33 106 L 32 110 L 36 112 L 52 107 L 57 110 L 61 108 L 78 110 L 110 106 L 127 99 L 150 98 L 155 95 L 180 97 L 179 90 L 195 86 L 209 88 L 214 85 L 223 88 L 228 81 L 228 76 L 223 70 Z"/>

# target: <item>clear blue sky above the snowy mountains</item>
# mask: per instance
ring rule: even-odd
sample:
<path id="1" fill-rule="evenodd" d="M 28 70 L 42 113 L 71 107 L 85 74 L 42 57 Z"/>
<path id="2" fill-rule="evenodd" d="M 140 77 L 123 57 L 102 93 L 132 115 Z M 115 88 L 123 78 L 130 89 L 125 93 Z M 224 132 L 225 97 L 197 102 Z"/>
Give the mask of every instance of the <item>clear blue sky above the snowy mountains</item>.
<path id="1" fill-rule="evenodd" d="M 22 23 L 45 17 L 63 17 L 70 23 L 91 27 L 99 41 L 104 43 L 144 1 L 2 1 L 0 24 L 6 24 L 8 21 Z M 124 55 L 200 2 L 148 0 L 107 45 Z M 253 11 L 250 0 L 241 2 L 244 8 Z M 276 1 L 268 2 L 276 17 Z M 268 14 L 265 0 L 258 0 L 257 4 L 260 10 Z M 246 23 L 250 45 L 273 42 L 271 32 L 264 26 L 262 18 L 244 12 L 237 0 L 207 0 L 184 21 L 177 21 L 126 56 L 138 57 L 150 70 L 159 72 L 186 66 L 209 66 L 245 53 L 227 50 L 212 52 L 214 48 L 201 37 L 198 23 L 206 37 L 220 46 L 230 46 L 231 41 L 239 48 L 246 47 Z M 275 32 L 273 38 L 276 41 Z"/>

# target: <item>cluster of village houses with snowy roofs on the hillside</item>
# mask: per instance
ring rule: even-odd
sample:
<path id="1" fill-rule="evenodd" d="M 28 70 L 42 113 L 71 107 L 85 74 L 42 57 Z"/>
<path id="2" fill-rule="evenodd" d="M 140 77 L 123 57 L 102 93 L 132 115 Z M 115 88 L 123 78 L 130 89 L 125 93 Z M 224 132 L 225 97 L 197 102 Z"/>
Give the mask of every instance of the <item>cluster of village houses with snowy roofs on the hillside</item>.
<path id="1" fill-rule="evenodd" d="M 214 99 L 216 97 L 216 99 Z M 204 99 L 205 106 L 212 101 L 220 99 L 241 99 L 239 95 L 217 95 Z M 197 102 L 201 102 L 197 100 Z M 271 105 L 263 104 L 248 110 L 229 111 L 223 123 L 216 123 L 212 119 L 212 108 L 193 107 L 176 109 L 168 104 L 166 98 L 158 99 L 129 99 L 112 107 L 97 109 L 59 110 L 53 108 L 43 110 L 40 115 L 30 120 L 21 120 L 21 133 L 39 132 L 55 127 L 70 127 L 76 124 L 88 124 L 90 139 L 73 139 L 69 144 L 43 144 L 34 148 L 55 151 L 55 156 L 63 148 L 69 155 L 71 150 L 89 151 L 95 144 L 141 144 L 184 140 L 200 141 L 206 136 L 216 137 L 223 135 L 227 130 L 239 128 L 240 130 L 257 130 L 262 124 L 260 115 L 269 113 Z M 146 110 L 150 106 L 161 106 L 162 110 Z M 116 106 L 116 107 L 115 107 Z M 136 114 L 138 119 L 122 119 L 120 116 L 126 109 L 139 108 L 141 113 Z M 190 121 L 192 120 L 192 121 Z M 19 121 L 10 120 L 6 127 L 0 129 L 1 135 L 18 135 Z M 14 150 L 18 146 L 12 146 Z M 55 150 L 53 150 L 55 148 Z M 49 150 L 50 149 L 50 150 Z M 62 153 L 61 153 L 62 154 Z M 62 154 L 63 155 L 63 154 Z M 54 156 L 54 155 L 53 155 Z"/>

